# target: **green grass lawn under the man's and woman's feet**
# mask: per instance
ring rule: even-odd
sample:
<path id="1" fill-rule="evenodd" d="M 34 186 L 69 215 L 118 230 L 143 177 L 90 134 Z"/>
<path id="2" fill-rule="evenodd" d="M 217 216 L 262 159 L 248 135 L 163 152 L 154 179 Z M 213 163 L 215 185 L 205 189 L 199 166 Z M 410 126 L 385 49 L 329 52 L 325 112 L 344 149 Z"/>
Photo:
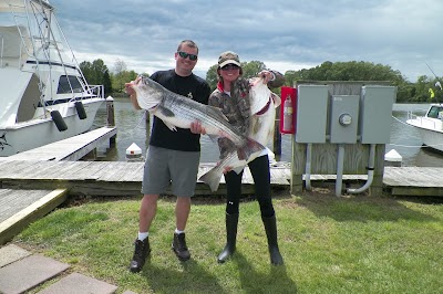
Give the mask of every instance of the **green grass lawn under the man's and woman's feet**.
<path id="1" fill-rule="evenodd" d="M 210 200 L 210 201 L 209 201 Z M 240 204 L 237 251 L 225 264 L 223 200 L 197 198 L 192 259 L 171 250 L 174 198 L 162 198 L 152 254 L 130 273 L 140 199 L 91 199 L 35 221 L 13 242 L 119 286 L 117 293 L 443 293 L 443 201 L 332 193 L 275 199 L 284 266 L 271 266 L 258 203 Z"/>

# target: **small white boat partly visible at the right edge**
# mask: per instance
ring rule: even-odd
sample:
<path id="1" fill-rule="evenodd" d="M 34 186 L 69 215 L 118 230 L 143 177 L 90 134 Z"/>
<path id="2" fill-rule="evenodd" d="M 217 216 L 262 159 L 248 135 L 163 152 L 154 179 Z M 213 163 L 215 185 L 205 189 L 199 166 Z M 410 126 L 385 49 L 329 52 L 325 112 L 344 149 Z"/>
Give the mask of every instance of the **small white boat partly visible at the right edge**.
<path id="1" fill-rule="evenodd" d="M 443 104 L 431 104 L 424 116 L 408 112 L 406 124 L 419 129 L 424 145 L 443 151 Z"/>

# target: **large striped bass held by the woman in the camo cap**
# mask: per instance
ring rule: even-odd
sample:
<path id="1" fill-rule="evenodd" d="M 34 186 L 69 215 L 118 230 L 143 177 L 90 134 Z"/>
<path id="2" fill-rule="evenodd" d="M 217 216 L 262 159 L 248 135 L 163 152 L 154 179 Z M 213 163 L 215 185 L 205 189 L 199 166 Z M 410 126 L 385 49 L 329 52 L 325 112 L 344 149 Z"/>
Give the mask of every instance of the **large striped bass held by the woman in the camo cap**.
<path id="1" fill-rule="evenodd" d="M 248 137 L 257 140 L 262 146 L 266 146 L 274 138 L 274 125 L 276 120 L 276 108 L 280 105 L 280 97 L 272 93 L 266 84 L 264 77 L 255 77 L 251 80 L 251 87 L 249 91 L 250 104 L 250 127 Z M 268 154 L 272 153 L 268 149 Z M 265 153 L 254 153 L 247 158 L 239 158 L 236 153 L 229 151 L 222 160 L 199 177 L 199 180 L 207 183 L 210 190 L 217 191 L 220 178 L 224 171 L 228 168 L 237 174 L 245 168 L 245 166 Z"/>

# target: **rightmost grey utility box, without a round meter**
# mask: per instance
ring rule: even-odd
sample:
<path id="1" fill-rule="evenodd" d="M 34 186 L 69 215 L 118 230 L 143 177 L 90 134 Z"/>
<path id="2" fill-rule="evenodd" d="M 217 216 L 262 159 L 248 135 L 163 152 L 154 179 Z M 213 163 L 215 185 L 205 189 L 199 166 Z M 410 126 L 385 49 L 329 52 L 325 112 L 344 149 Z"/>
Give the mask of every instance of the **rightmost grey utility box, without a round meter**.
<path id="1" fill-rule="evenodd" d="M 363 86 L 361 91 L 360 129 L 362 144 L 389 144 L 395 86 Z"/>

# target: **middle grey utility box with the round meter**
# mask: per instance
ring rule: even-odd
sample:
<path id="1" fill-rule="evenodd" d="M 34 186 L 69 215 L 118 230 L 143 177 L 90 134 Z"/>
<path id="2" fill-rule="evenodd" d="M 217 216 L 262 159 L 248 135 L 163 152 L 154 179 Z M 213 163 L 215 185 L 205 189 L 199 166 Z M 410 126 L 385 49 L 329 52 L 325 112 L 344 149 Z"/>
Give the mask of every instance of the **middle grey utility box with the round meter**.
<path id="1" fill-rule="evenodd" d="M 331 143 L 357 143 L 359 125 L 359 95 L 331 96 Z"/>

